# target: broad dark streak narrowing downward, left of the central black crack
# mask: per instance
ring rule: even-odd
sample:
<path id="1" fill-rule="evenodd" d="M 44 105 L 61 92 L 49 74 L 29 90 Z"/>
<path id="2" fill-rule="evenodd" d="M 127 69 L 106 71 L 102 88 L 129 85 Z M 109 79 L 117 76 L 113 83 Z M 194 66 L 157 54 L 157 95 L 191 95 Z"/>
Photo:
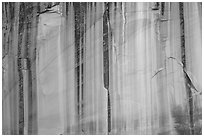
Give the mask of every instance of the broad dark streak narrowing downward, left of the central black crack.
<path id="1" fill-rule="evenodd" d="M 77 77 L 77 104 L 79 121 L 83 119 L 83 92 L 84 92 L 84 18 L 86 15 L 86 3 L 74 3 L 75 10 L 75 65 Z M 79 123 L 82 127 L 82 124 Z M 80 128 L 79 130 L 83 130 Z"/>

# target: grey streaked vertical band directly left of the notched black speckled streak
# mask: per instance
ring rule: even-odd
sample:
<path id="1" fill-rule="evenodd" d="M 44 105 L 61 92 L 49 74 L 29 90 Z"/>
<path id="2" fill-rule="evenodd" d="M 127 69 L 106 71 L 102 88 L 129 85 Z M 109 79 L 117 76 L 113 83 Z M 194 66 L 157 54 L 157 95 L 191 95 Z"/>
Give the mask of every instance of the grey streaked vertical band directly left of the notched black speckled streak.
<path id="1" fill-rule="evenodd" d="M 11 25 L 11 38 L 8 43 L 8 82 L 10 100 L 10 133 L 19 134 L 19 73 L 18 73 L 18 30 L 19 30 L 19 3 L 7 3 L 7 13 Z"/>

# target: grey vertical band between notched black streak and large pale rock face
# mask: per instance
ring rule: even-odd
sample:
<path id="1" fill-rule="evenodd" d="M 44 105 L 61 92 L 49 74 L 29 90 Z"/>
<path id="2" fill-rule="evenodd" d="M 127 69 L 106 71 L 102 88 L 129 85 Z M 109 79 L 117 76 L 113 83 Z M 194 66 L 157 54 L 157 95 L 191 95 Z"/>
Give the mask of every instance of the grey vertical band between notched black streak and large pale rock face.
<path id="1" fill-rule="evenodd" d="M 39 8 L 38 3 L 32 3 L 33 10 L 31 11 L 32 23 L 30 26 L 31 37 L 30 37 L 30 47 L 29 47 L 29 80 L 30 80 L 30 96 L 29 96 L 29 127 L 28 134 L 37 134 L 37 86 L 36 86 L 36 38 L 37 38 L 37 8 Z M 32 63 L 31 63 L 32 62 Z"/>

